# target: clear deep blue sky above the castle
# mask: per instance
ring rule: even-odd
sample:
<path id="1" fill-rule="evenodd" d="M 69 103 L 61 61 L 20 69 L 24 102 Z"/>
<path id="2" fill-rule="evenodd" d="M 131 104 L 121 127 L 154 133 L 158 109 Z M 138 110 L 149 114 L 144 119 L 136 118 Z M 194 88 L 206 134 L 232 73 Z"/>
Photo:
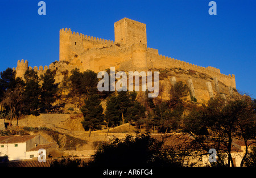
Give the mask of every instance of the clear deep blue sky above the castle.
<path id="1" fill-rule="evenodd" d="M 235 74 L 237 89 L 256 98 L 256 1 L 221 0 L 209 15 L 210 0 L 39 0 L 0 1 L 0 71 L 18 60 L 45 66 L 59 61 L 59 30 L 114 41 L 114 22 L 147 24 L 147 44 L 159 54 Z"/>

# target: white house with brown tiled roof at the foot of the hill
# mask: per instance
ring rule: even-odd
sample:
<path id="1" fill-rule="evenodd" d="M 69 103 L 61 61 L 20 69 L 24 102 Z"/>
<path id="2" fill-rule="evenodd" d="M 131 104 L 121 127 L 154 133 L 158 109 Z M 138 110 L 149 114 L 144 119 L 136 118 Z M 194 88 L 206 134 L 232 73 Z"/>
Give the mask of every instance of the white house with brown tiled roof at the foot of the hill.
<path id="1" fill-rule="evenodd" d="M 8 156 L 9 160 L 38 158 L 39 147 L 47 143 L 41 135 L 3 136 L 0 137 L 0 156 Z"/>

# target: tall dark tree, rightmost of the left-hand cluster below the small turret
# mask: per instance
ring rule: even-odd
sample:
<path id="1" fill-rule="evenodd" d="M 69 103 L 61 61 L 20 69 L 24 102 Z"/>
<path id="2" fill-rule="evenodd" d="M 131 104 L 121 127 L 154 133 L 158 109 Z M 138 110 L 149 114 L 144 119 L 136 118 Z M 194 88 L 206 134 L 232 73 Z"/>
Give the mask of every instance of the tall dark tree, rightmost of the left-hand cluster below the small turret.
<path id="1" fill-rule="evenodd" d="M 55 83 L 54 78 L 55 74 L 50 69 L 41 75 L 41 80 L 43 82 L 40 97 L 41 108 L 49 109 L 51 107 L 51 103 L 56 100 L 55 96 L 57 94 L 57 84 Z"/>

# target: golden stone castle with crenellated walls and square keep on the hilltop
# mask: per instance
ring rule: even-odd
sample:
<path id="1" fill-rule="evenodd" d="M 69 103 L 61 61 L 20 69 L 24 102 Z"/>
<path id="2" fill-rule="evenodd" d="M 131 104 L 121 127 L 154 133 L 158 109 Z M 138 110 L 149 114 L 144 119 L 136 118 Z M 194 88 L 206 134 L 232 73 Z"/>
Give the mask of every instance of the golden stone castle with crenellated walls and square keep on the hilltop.
<path id="1" fill-rule="evenodd" d="M 168 75 L 168 82 L 173 84 L 176 78 L 185 80 L 191 90 L 191 96 L 196 98 L 203 97 L 207 100 L 217 93 L 229 95 L 233 88 L 236 88 L 236 79 L 233 74 L 224 75 L 220 73 L 220 69 L 175 60 L 160 55 L 157 49 L 148 48 L 144 23 L 123 18 L 114 23 L 114 34 L 115 41 L 110 41 L 72 32 L 70 28 L 60 29 L 59 61 L 49 66 L 40 66 L 39 69 L 36 66 L 28 67 L 27 61 L 18 61 L 14 69 L 16 77 L 23 78 L 28 69 L 37 71 L 38 75 L 43 74 L 47 69 L 56 70 L 56 82 L 61 82 L 64 75 L 70 75 L 70 71 L 75 68 L 80 69 L 81 72 L 93 70 L 98 73 L 115 67 L 118 71 L 159 71 L 160 74 L 163 70 L 176 69 L 172 71 L 173 74 Z M 184 78 L 183 76 L 179 79 L 181 75 L 177 69 L 182 69 L 187 75 L 188 71 L 193 71 L 193 74 L 204 74 L 209 77 L 202 80 L 199 77 Z M 197 83 L 200 84 L 197 85 Z M 166 86 L 166 83 L 164 85 Z"/>

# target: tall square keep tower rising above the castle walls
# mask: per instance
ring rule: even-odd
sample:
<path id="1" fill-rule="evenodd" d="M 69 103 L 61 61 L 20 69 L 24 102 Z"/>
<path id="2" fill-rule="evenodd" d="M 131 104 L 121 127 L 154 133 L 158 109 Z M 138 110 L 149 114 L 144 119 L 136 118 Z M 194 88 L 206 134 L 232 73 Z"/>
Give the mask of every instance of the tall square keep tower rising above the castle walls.
<path id="1" fill-rule="evenodd" d="M 147 45 L 146 24 L 123 18 L 114 23 L 115 41 L 126 45 L 143 43 Z"/>

